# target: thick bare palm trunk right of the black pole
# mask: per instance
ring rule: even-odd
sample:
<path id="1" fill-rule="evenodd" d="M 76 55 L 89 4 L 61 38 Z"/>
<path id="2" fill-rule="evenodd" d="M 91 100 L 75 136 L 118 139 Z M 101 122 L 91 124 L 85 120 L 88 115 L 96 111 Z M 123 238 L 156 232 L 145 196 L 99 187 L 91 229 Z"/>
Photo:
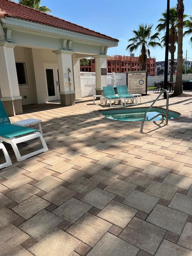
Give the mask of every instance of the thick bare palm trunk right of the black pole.
<path id="1" fill-rule="evenodd" d="M 174 95 L 182 94 L 182 65 L 183 65 L 183 17 L 184 4 L 183 0 L 177 0 L 177 14 L 178 14 L 178 52 L 177 52 L 177 74 L 174 89 Z"/>

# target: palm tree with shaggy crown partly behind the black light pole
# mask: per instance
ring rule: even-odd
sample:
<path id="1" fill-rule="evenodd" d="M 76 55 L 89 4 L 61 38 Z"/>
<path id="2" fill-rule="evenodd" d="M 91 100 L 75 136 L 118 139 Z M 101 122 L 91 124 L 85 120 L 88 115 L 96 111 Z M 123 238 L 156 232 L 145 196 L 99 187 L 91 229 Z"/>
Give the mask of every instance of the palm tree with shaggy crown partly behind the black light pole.
<path id="1" fill-rule="evenodd" d="M 183 17 L 187 17 L 188 15 L 184 14 Z M 158 32 L 162 32 L 166 30 L 167 25 L 167 10 L 162 13 L 162 18 L 158 20 L 160 22 L 156 29 Z M 173 82 L 173 65 L 174 65 L 174 55 L 176 51 L 176 43 L 177 43 L 177 34 L 178 34 L 178 14 L 176 8 L 170 8 L 170 16 L 169 16 L 169 51 L 171 53 L 171 67 L 170 67 L 170 82 Z M 165 38 L 164 41 L 165 44 Z"/>

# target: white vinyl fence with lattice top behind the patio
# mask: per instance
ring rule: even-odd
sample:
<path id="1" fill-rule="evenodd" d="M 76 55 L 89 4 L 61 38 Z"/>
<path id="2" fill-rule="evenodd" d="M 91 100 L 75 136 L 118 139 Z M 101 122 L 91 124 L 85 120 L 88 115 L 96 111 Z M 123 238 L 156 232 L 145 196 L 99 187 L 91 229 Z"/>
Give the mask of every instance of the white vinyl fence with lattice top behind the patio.
<path id="1" fill-rule="evenodd" d="M 95 95 L 95 72 L 80 72 L 82 97 Z M 173 75 L 175 81 L 176 75 Z M 168 76 L 168 81 L 170 76 Z M 183 74 L 182 80 L 192 80 L 192 74 Z M 147 86 L 154 86 L 154 82 L 164 81 L 164 76 L 147 77 Z M 126 73 L 107 73 L 107 86 L 126 85 Z"/>

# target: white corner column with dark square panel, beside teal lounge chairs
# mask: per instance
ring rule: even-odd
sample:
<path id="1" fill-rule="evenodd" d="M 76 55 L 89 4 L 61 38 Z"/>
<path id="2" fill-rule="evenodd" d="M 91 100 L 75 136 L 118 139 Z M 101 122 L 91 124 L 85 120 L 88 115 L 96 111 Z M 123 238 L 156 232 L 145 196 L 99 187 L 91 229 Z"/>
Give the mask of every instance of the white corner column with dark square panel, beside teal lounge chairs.
<path id="1" fill-rule="evenodd" d="M 103 86 L 107 86 L 107 55 L 93 56 L 95 59 L 96 95 L 103 95 Z"/>

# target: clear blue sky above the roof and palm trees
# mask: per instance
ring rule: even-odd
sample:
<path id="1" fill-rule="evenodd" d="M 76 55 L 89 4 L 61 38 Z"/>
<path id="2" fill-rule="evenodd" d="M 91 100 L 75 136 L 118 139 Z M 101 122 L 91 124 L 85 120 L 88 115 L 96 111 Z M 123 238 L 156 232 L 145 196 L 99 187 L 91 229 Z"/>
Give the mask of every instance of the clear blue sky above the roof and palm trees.
<path id="1" fill-rule="evenodd" d="M 184 13 L 192 15 L 192 0 L 183 2 Z M 176 4 L 177 0 L 170 0 L 170 8 L 176 7 Z M 108 55 L 129 56 L 125 49 L 127 40 L 133 37 L 132 29 L 137 29 L 138 24 L 147 23 L 154 24 L 152 31 L 155 32 L 161 13 L 167 9 L 167 0 L 42 0 L 41 5 L 49 7 L 56 17 L 117 38 L 118 47 L 108 49 Z M 183 39 L 183 57 L 186 57 L 187 50 L 187 59 L 192 61 L 189 39 L 189 36 Z M 151 48 L 150 52 L 156 61 L 165 60 L 165 48 Z M 139 56 L 139 51 L 135 52 L 135 56 Z"/>

